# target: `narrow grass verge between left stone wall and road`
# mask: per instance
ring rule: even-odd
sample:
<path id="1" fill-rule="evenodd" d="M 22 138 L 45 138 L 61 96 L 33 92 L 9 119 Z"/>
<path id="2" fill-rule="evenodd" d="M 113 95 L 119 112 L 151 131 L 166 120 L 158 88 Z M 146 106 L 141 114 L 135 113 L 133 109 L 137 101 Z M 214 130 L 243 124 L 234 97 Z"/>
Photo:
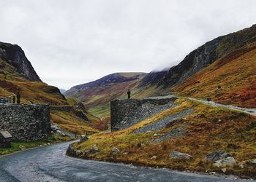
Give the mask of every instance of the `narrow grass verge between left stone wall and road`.
<path id="1" fill-rule="evenodd" d="M 20 151 L 19 146 L 24 146 L 26 149 L 31 149 L 37 146 L 48 145 L 49 143 L 53 144 L 53 143 L 59 143 L 64 141 L 71 141 L 71 138 L 67 136 L 60 136 L 58 134 L 53 134 L 53 135 L 50 135 L 48 138 L 38 140 L 38 141 L 29 141 L 29 142 L 13 141 L 12 148 L 0 148 L 0 156 L 4 154 L 11 154 L 13 152 Z"/>

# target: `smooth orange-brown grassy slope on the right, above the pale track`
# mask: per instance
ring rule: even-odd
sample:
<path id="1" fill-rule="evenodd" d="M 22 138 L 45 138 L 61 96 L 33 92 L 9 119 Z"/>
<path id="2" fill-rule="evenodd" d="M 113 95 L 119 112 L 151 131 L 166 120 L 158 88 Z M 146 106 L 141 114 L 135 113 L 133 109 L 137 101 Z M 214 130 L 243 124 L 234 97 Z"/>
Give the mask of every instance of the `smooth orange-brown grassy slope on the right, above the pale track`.
<path id="1" fill-rule="evenodd" d="M 219 103 L 256 107 L 256 43 L 217 60 L 173 91 Z M 218 89 L 221 86 L 221 89 Z"/>

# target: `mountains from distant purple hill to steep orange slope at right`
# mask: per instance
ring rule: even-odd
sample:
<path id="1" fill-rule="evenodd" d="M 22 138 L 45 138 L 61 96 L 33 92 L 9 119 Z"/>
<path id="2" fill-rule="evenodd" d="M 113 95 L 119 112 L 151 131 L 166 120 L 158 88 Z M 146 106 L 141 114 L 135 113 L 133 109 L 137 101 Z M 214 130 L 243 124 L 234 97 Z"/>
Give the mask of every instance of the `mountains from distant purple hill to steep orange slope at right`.
<path id="1" fill-rule="evenodd" d="M 109 101 L 126 98 L 128 88 L 132 90 L 132 98 L 177 92 L 255 107 L 255 41 L 256 25 L 252 25 L 206 42 L 169 70 L 151 71 L 138 79 L 110 74 L 95 82 L 72 87 L 65 95 L 83 102 L 92 113 L 103 116 L 109 116 Z"/>

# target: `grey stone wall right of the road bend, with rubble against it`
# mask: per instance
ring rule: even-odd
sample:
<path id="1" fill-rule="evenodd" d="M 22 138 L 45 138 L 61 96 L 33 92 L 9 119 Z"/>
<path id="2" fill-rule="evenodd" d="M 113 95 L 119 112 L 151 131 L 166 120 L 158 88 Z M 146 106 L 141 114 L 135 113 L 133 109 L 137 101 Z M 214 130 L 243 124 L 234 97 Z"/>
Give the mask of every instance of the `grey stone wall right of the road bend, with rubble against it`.
<path id="1" fill-rule="evenodd" d="M 139 121 L 151 116 L 150 108 L 157 108 L 168 103 L 174 103 L 176 98 L 144 98 L 113 100 L 110 102 L 110 128 L 111 131 L 120 130 L 135 124 L 135 119 L 129 119 L 132 116 Z M 144 109 L 141 109 L 145 105 Z M 151 107 L 148 107 L 151 106 Z M 148 114 L 145 114 L 148 112 Z M 132 122 L 133 120 L 133 122 Z"/>

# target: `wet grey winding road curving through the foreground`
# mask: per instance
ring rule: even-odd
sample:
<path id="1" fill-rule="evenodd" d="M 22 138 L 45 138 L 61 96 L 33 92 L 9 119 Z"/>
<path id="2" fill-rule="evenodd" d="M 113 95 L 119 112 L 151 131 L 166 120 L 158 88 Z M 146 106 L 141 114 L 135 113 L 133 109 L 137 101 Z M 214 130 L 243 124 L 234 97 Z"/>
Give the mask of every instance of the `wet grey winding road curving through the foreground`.
<path id="1" fill-rule="evenodd" d="M 234 177 L 95 162 L 65 155 L 70 142 L 0 158 L 0 181 L 236 181 Z"/>

